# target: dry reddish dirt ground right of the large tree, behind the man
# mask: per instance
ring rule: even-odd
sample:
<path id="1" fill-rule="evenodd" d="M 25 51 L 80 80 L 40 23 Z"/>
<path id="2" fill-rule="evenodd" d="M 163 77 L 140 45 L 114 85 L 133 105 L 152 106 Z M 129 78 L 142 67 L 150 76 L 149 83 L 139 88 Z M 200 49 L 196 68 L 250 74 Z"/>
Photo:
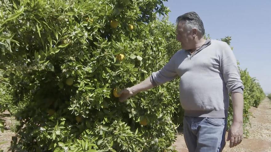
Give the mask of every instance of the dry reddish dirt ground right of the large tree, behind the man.
<path id="1" fill-rule="evenodd" d="M 233 147 L 229 147 L 229 142 L 223 152 L 271 152 L 271 101 L 265 98 L 258 108 L 251 107 L 251 127 L 249 127 L 249 137 Z M 227 138 L 226 134 L 226 138 Z M 179 152 L 188 152 L 182 134 L 177 135 L 177 140 L 173 144 Z"/>

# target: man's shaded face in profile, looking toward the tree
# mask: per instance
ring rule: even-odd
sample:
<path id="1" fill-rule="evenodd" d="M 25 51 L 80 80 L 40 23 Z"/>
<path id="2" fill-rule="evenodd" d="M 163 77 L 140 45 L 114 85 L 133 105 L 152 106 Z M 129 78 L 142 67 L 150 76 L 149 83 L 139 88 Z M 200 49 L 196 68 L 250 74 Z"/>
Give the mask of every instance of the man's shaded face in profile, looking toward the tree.
<path id="1" fill-rule="evenodd" d="M 192 31 L 192 29 L 189 29 L 185 25 L 185 21 L 180 21 L 177 24 L 176 39 L 181 43 L 183 49 L 194 49 L 195 41 L 193 39 Z"/>

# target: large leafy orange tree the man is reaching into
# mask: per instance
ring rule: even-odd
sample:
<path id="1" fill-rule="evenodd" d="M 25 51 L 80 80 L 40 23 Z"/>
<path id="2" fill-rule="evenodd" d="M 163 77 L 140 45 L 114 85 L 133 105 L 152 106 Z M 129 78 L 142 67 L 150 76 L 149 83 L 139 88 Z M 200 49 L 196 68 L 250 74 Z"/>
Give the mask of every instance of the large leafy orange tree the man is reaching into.
<path id="1" fill-rule="evenodd" d="M 178 81 L 119 103 L 180 48 L 162 0 L 1 0 L 0 67 L 25 151 L 174 151 Z M 173 86 L 173 87 L 172 87 Z M 117 95 L 117 92 L 115 92 Z"/>

